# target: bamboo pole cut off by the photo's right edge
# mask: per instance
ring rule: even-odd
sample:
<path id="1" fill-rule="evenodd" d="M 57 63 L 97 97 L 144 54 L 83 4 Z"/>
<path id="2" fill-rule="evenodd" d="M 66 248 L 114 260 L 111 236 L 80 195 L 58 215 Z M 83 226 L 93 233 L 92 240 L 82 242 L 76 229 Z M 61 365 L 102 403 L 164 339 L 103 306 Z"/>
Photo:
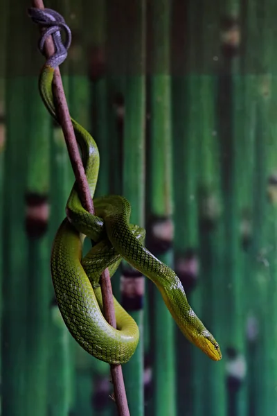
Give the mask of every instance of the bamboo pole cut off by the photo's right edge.
<path id="1" fill-rule="evenodd" d="M 258 115 L 259 115 L 259 131 L 256 135 L 256 146 L 258 153 L 258 162 L 260 168 L 264 172 L 261 172 L 263 179 L 263 189 L 267 186 L 267 193 L 265 191 L 260 195 L 263 197 L 264 203 L 264 217 L 262 224 L 262 233 L 260 241 L 260 259 L 262 261 L 264 277 L 264 284 L 261 291 L 265 291 L 265 297 L 263 298 L 263 314 L 261 317 L 262 331 L 264 332 L 262 347 L 267 349 L 267 354 L 261 357 L 263 361 L 263 368 L 261 374 L 260 383 L 262 385 L 263 400 L 260 401 L 258 410 L 261 411 L 262 405 L 264 405 L 266 414 L 277 412 L 276 404 L 276 390 L 274 389 L 274 383 L 277 377 L 277 365 L 276 365 L 276 345 L 277 337 L 276 333 L 272 332 L 272 327 L 276 324 L 276 302 L 274 299 L 274 293 L 277 288 L 277 267 L 276 267 L 276 245 L 277 245 L 277 221 L 276 221 L 276 198 L 274 198 L 274 177 L 276 175 L 276 68 L 277 60 L 275 53 L 275 39 L 276 28 L 272 26 L 274 22 L 274 14 L 276 14 L 276 3 L 268 0 L 264 4 L 258 3 L 258 16 L 262 16 L 260 19 L 260 58 L 261 62 L 258 66 L 256 64 L 253 69 L 258 69 L 258 83 L 256 88 L 258 89 Z M 261 151 L 259 151 L 261 150 Z M 271 192 L 269 192 L 271 191 Z M 267 200 L 265 202 L 265 198 Z M 265 308 L 265 305 L 267 307 Z M 262 355 L 262 349 L 260 350 Z M 259 369 L 260 370 L 260 369 Z M 260 375 L 260 373 L 259 373 Z M 259 385 L 260 387 L 260 385 Z M 262 403 L 263 401 L 263 403 Z"/>

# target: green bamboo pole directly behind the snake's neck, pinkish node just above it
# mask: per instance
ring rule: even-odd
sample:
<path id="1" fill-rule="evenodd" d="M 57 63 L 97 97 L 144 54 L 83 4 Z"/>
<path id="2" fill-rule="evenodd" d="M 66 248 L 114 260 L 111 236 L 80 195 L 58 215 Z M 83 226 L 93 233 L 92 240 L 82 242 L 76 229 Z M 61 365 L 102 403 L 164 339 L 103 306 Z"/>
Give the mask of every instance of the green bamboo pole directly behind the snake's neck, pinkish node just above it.
<path id="1" fill-rule="evenodd" d="M 195 13 L 190 3 L 172 4 L 172 139 L 174 145 L 175 271 L 188 300 L 199 305 L 197 227 L 197 90 L 199 76 L 192 72 L 199 49 Z M 195 30 L 195 33 L 193 32 Z M 192 45 L 191 39 L 194 39 Z M 191 46 L 190 46 L 191 44 Z M 195 292 L 194 292 L 195 291 Z M 177 331 L 177 415 L 193 414 L 195 393 L 193 345 Z M 196 387 L 199 383 L 196 383 Z"/>

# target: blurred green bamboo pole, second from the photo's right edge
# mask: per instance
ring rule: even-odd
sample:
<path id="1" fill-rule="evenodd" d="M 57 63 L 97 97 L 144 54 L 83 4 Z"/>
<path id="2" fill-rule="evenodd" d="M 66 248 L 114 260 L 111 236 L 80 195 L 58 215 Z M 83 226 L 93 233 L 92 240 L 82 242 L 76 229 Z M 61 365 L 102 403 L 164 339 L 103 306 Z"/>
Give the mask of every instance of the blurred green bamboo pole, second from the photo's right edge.
<path id="1" fill-rule="evenodd" d="M 260 261 L 260 248 L 265 241 L 265 209 L 266 209 L 266 171 L 265 171 L 265 137 L 264 126 L 261 124 L 258 101 L 260 101 L 257 85 L 260 85 L 259 71 L 262 67 L 264 38 L 262 26 L 265 22 L 262 10 L 265 5 L 258 2 L 242 2 L 242 73 L 244 76 L 244 157 L 248 170 L 244 193 L 253 206 L 249 207 L 250 218 L 244 224 L 249 229 L 247 244 L 247 270 L 245 287 L 247 288 L 247 412 L 250 416 L 258 416 L 265 409 L 265 354 L 264 325 L 262 311 L 265 302 L 265 281 L 268 270 Z M 266 78 L 265 78 L 266 79 Z M 267 84 L 267 83 L 266 83 Z M 266 89 L 267 90 L 267 89 Z M 265 92 L 267 92 L 265 90 Z M 253 184 L 253 187 L 251 186 Z M 249 222 L 250 221 L 250 222 Z M 248 224 L 248 225 L 247 225 Z M 245 241 L 245 240 L 244 240 Z M 245 247 L 245 245 L 244 245 Z M 265 413 L 266 414 L 266 413 Z"/>

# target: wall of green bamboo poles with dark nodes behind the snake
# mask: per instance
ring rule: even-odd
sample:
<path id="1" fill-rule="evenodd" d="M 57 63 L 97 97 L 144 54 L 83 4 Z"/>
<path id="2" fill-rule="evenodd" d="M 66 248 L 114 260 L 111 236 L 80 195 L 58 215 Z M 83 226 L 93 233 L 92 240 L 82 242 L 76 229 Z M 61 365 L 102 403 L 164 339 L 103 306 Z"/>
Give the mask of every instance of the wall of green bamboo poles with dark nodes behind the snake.
<path id="1" fill-rule="evenodd" d="M 51 244 L 73 173 L 38 93 L 29 6 L 0 0 L 0 415 L 113 416 L 109 365 L 75 343 L 55 304 Z M 45 6 L 72 31 L 62 79 L 98 143 L 97 196 L 129 199 L 222 349 L 214 363 L 188 343 L 123 262 L 113 291 L 141 331 L 123 366 L 131 416 L 276 415 L 276 1 Z M 136 300 L 126 278 L 144 288 Z"/>

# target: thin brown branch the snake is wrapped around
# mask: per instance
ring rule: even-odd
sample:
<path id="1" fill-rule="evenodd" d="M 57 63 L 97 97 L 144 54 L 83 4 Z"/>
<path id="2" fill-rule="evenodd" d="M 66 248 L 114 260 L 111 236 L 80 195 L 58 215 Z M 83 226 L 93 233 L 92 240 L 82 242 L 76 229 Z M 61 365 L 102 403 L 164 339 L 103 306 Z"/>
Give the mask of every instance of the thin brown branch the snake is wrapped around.
<path id="1" fill-rule="evenodd" d="M 42 0 L 32 0 L 33 7 L 44 9 Z M 47 58 L 55 53 L 55 46 L 52 37 L 48 37 L 45 42 L 45 51 Z M 55 103 L 57 106 L 57 113 L 59 116 L 60 125 L 64 133 L 66 147 L 69 152 L 71 166 L 75 175 L 75 180 L 78 184 L 79 196 L 82 201 L 84 209 L 87 209 L 91 214 L 94 214 L 93 201 L 89 193 L 89 185 L 87 177 L 84 173 L 84 166 L 78 150 L 78 144 L 75 139 L 73 125 L 69 114 L 69 108 L 66 103 L 64 88 L 62 85 L 62 77 L 60 69 L 55 69 L 53 79 L 53 94 L 55 96 Z M 111 291 L 111 279 L 109 278 L 109 270 L 102 272 L 102 299 L 104 305 L 104 315 L 109 324 L 116 328 L 116 316 L 114 313 L 114 301 Z M 127 404 L 127 397 L 125 392 L 125 385 L 123 380 L 123 372 L 121 365 L 111 365 L 111 379 L 114 383 L 114 397 L 116 406 L 118 408 L 118 415 L 129 416 L 129 408 Z"/>

